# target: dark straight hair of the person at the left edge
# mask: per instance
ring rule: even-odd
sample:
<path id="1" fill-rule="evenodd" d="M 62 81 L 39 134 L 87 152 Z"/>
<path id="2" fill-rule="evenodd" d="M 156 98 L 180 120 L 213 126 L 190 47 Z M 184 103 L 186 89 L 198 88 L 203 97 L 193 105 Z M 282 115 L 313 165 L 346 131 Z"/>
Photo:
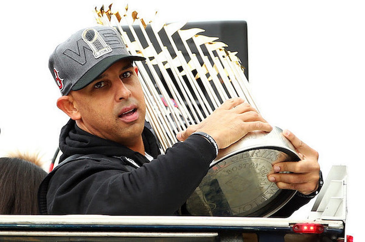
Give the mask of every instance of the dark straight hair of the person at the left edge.
<path id="1" fill-rule="evenodd" d="M 47 172 L 30 161 L 0 158 L 0 214 L 38 214 L 38 187 Z"/>

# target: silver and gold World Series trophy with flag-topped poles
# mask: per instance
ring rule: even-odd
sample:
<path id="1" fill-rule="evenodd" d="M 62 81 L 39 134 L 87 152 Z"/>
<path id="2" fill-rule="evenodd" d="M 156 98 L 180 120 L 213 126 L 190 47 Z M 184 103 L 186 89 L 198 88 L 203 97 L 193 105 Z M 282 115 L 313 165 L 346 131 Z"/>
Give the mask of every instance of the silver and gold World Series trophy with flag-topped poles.
<path id="1" fill-rule="evenodd" d="M 121 15 L 95 8 L 97 23 L 115 27 L 136 62 L 151 124 L 161 151 L 177 143 L 177 132 L 198 124 L 228 98 L 241 97 L 257 109 L 237 52 L 218 38 L 204 36 L 185 23 L 145 22 L 128 7 Z M 295 194 L 269 182 L 272 166 L 298 161 L 292 144 L 274 127 L 250 132 L 221 149 L 207 175 L 186 202 L 192 215 L 270 216 Z"/>

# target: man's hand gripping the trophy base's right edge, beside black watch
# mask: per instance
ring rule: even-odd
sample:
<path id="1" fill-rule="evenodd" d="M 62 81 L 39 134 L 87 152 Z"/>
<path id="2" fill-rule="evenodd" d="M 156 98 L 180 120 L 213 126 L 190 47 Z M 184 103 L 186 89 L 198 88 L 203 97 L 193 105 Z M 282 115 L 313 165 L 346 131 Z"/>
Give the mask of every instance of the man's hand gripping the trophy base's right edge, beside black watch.
<path id="1" fill-rule="evenodd" d="M 319 180 L 318 152 L 299 140 L 293 133 L 284 130 L 283 134 L 294 145 L 301 160 L 284 161 L 273 165 L 275 173 L 269 174 L 270 182 L 276 182 L 278 188 L 298 190 L 308 195 L 316 191 Z M 277 173 L 289 171 L 292 173 Z"/>

